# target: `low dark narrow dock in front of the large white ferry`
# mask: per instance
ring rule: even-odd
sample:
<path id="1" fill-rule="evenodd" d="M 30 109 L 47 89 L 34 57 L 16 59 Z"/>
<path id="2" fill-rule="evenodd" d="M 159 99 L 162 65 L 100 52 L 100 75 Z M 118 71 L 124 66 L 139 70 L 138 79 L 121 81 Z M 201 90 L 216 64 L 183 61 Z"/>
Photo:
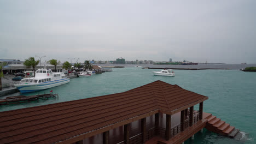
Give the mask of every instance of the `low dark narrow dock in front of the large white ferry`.
<path id="1" fill-rule="evenodd" d="M 40 95 L 19 95 L 14 97 L 7 97 L 5 99 L 0 99 L 0 105 L 8 105 L 8 104 L 20 104 L 20 103 L 28 103 L 30 101 L 38 101 L 38 100 L 46 100 L 49 98 L 59 97 L 58 94 L 40 94 Z"/>

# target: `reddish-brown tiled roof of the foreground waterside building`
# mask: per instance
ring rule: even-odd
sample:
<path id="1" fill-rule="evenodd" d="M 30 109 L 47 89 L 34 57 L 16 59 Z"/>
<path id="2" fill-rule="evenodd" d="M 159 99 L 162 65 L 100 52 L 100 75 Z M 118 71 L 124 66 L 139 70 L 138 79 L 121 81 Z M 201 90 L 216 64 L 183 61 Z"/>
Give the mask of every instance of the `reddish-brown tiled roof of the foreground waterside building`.
<path id="1" fill-rule="evenodd" d="M 0 143 L 82 140 L 157 112 L 173 114 L 206 99 L 155 81 L 123 93 L 0 112 Z"/>

